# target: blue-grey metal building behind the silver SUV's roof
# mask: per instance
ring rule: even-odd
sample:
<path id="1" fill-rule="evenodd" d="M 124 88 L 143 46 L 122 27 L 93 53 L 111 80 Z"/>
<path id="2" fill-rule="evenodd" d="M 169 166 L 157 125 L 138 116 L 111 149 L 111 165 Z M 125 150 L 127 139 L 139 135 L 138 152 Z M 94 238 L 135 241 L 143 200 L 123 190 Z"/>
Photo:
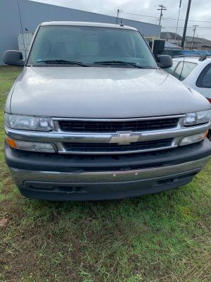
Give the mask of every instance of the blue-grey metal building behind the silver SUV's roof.
<path id="1" fill-rule="evenodd" d="M 0 0 L 0 65 L 7 49 L 18 49 L 18 34 L 34 32 L 39 23 L 48 20 L 73 20 L 117 23 L 117 18 L 30 0 Z M 119 19 L 120 23 L 120 19 Z M 143 35 L 160 37 L 160 26 L 122 19 L 124 25 L 136 27 Z"/>

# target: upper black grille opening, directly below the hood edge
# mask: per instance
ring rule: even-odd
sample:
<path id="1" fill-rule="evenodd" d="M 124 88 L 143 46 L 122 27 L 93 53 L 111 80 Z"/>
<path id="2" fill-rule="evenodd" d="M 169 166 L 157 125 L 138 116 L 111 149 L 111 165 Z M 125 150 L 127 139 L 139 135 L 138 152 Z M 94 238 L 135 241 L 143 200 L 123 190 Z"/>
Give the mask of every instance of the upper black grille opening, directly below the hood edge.
<path id="1" fill-rule="evenodd" d="M 116 133 L 117 131 L 150 131 L 177 127 L 179 118 L 131 121 L 58 121 L 60 130 L 72 133 Z"/>

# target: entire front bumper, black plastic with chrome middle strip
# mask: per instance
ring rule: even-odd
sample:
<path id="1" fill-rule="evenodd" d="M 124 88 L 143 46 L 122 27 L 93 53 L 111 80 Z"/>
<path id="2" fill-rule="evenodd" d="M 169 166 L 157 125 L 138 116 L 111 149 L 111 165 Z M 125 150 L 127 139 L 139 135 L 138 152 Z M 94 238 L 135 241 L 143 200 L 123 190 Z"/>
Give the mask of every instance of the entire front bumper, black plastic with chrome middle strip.
<path id="1" fill-rule="evenodd" d="M 6 163 L 20 192 L 46 200 L 106 200 L 169 190 L 190 182 L 210 159 L 211 142 L 121 157 L 20 152 Z"/>

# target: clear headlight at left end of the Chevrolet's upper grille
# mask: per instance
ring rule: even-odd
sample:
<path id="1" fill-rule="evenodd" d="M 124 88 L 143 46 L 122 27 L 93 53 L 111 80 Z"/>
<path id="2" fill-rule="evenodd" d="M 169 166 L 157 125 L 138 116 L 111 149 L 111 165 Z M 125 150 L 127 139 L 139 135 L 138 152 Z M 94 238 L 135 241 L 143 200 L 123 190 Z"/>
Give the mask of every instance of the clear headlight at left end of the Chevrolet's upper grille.
<path id="1" fill-rule="evenodd" d="M 13 114 L 4 115 L 4 124 L 7 128 L 33 131 L 53 130 L 53 121 L 46 116 L 19 116 Z"/>

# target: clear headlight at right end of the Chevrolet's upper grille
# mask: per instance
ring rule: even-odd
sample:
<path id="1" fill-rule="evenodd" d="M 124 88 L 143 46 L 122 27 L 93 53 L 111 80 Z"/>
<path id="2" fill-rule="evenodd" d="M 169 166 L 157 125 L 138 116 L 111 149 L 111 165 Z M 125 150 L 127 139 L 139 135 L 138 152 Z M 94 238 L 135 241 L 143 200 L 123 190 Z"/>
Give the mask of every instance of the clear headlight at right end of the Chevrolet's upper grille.
<path id="1" fill-rule="evenodd" d="M 184 125 L 198 125 L 208 123 L 209 121 L 211 121 L 211 110 L 198 111 L 197 113 L 186 114 Z"/>

